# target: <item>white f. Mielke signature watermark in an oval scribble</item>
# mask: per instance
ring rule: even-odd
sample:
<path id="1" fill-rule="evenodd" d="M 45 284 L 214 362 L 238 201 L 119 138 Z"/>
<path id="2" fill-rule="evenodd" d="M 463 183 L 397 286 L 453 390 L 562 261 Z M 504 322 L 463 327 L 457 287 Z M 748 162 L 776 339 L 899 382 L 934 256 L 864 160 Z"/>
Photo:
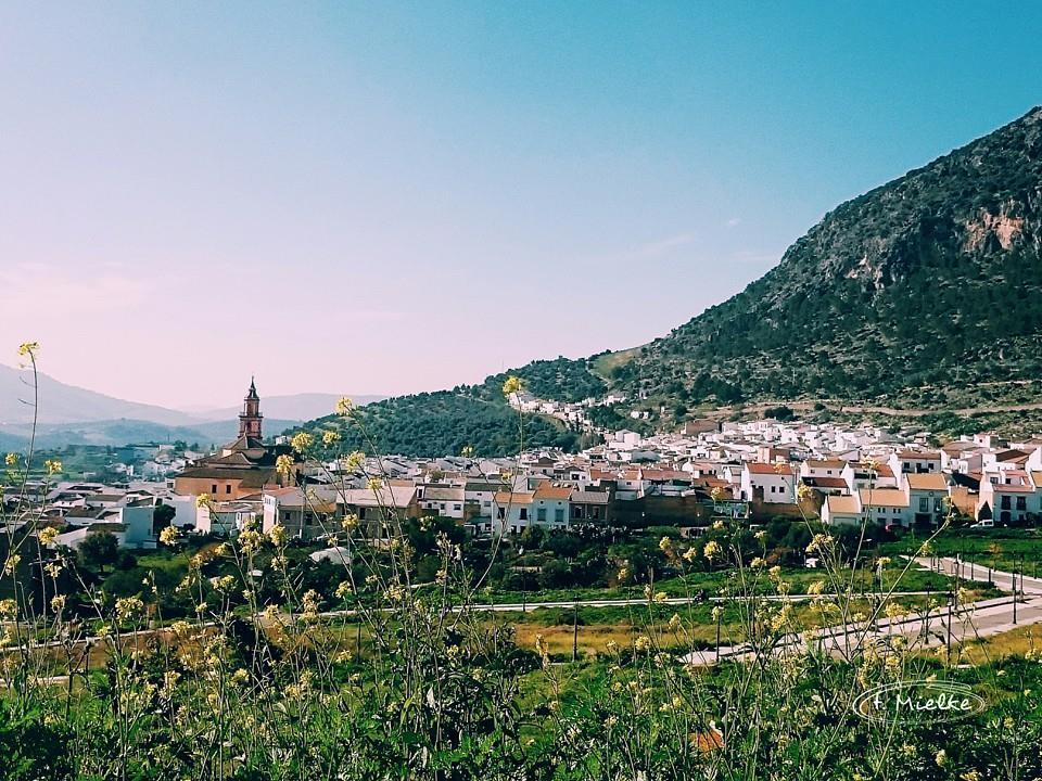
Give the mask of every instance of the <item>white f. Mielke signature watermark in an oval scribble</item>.
<path id="1" fill-rule="evenodd" d="M 885 683 L 853 702 L 854 713 L 869 721 L 910 725 L 957 721 L 986 706 L 984 699 L 968 684 L 940 680 Z"/>

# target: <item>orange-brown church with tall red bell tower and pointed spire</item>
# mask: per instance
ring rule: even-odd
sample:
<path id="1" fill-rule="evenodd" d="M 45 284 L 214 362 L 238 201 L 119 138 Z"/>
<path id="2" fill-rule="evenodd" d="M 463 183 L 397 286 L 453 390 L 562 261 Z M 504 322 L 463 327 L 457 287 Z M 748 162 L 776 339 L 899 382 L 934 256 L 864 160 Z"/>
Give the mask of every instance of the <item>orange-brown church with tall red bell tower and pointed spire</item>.
<path id="1" fill-rule="evenodd" d="M 239 413 L 239 437 L 175 477 L 175 492 L 206 494 L 215 501 L 229 501 L 256 498 L 265 488 L 292 485 L 295 475 L 280 475 L 276 460 L 279 456 L 291 456 L 300 463 L 300 459 L 289 445 L 265 445 L 263 423 L 260 397 L 251 377 L 250 390 Z"/>

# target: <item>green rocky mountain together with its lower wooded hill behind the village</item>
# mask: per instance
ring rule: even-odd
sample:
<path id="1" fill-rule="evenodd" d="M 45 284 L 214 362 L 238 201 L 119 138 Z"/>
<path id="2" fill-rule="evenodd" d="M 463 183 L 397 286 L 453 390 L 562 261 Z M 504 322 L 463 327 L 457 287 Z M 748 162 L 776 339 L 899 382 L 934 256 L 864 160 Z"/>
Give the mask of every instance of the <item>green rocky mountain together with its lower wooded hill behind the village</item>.
<path id="1" fill-rule="evenodd" d="M 507 374 L 542 398 L 620 390 L 668 405 L 670 421 L 696 406 L 760 399 L 938 409 L 963 398 L 987 408 L 1037 393 L 1042 108 L 838 206 L 764 277 L 650 344 L 535 361 L 481 385 L 378 402 L 360 418 L 384 451 L 447 453 L 471 437 L 481 454 L 512 452 L 517 421 L 499 392 Z M 482 426 L 454 433 L 468 414 Z M 579 443 L 537 417 L 530 425 L 531 445 Z"/>

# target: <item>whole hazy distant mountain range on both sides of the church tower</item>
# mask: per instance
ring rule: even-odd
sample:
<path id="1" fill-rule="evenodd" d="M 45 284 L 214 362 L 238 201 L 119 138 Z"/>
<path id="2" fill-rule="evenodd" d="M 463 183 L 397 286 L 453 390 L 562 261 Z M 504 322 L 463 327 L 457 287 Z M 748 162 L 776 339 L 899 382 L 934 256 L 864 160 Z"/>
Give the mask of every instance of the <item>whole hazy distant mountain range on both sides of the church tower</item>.
<path id="1" fill-rule="evenodd" d="M 0 364 L 0 450 L 25 447 L 31 434 L 33 388 L 28 374 Z M 37 445 L 125 445 L 182 440 L 206 446 L 233 439 L 239 431 L 240 407 L 187 412 L 127 401 L 39 375 Z M 294 394 L 262 398 L 265 432 L 279 434 L 301 421 L 333 410 L 334 394 Z M 356 404 L 379 396 L 355 396 Z"/>

